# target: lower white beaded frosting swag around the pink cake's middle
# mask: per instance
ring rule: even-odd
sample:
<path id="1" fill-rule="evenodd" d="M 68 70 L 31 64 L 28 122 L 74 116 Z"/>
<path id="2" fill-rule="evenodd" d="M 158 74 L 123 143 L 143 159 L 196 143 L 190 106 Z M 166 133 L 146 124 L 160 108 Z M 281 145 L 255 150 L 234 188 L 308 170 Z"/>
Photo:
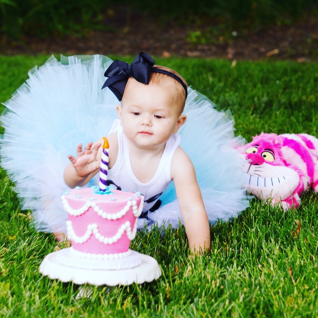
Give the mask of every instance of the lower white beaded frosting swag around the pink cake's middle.
<path id="1" fill-rule="evenodd" d="M 77 236 L 74 232 L 72 221 L 68 220 L 66 222 L 66 225 L 67 225 L 67 236 L 69 239 L 72 239 L 75 243 L 84 243 L 88 241 L 88 239 L 92 235 L 94 235 L 95 238 L 98 239 L 101 243 L 113 244 L 122 237 L 125 231 L 126 231 L 128 239 L 130 240 L 135 238 L 136 231 L 137 231 L 137 222 L 135 222 L 134 228 L 132 230 L 130 222 L 127 221 L 121 225 L 118 232 L 114 236 L 104 237 L 103 235 L 100 234 L 97 224 L 93 223 L 93 224 L 87 225 L 86 233 L 83 236 Z"/>

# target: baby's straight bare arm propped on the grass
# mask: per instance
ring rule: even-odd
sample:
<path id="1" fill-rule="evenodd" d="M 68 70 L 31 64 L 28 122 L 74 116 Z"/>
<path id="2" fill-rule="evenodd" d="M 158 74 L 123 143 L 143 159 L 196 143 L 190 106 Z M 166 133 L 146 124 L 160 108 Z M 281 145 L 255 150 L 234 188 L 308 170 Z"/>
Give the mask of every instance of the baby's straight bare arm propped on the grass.
<path id="1" fill-rule="evenodd" d="M 171 162 L 171 177 L 176 187 L 190 250 L 210 250 L 210 226 L 201 191 L 190 158 L 178 147 Z"/>

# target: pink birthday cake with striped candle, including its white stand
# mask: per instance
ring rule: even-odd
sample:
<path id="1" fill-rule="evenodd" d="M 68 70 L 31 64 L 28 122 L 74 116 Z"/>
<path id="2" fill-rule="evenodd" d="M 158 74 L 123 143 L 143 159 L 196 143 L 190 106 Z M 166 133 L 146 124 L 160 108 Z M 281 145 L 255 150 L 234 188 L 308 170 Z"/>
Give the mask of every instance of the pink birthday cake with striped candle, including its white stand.
<path id="1" fill-rule="evenodd" d="M 151 256 L 129 249 L 144 197 L 107 186 L 108 141 L 104 137 L 99 187 L 75 187 L 62 195 L 72 246 L 46 255 L 39 271 L 75 284 L 130 285 L 161 275 Z"/>

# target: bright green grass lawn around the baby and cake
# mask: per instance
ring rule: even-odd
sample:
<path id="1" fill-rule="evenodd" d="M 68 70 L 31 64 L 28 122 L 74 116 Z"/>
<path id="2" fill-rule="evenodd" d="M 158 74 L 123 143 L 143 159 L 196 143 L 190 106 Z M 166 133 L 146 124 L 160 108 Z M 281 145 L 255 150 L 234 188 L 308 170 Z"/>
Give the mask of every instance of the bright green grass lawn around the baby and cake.
<path id="1" fill-rule="evenodd" d="M 46 59 L 0 56 L 0 101 Z M 318 136 L 318 63 L 155 60 L 177 69 L 218 109 L 230 109 L 237 135 L 248 141 L 261 131 Z M 63 246 L 32 229 L 30 211 L 20 211 L 4 171 L 0 180 L 0 316 L 318 317 L 315 193 L 305 193 L 300 208 L 287 212 L 252 200 L 232 222 L 211 227 L 211 253 L 196 259 L 188 257 L 183 228 L 163 237 L 139 232 L 131 247 L 156 258 L 162 276 L 93 287 L 90 298 L 75 299 L 78 286 L 38 272 L 45 255 Z"/>

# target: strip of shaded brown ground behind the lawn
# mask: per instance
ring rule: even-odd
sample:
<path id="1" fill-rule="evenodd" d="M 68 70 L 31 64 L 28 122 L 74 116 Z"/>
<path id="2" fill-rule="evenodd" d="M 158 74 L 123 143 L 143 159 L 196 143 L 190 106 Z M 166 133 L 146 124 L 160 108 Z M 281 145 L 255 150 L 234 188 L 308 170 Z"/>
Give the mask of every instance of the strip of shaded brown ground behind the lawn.
<path id="1" fill-rule="evenodd" d="M 266 31 L 228 34 L 217 34 L 208 23 L 162 26 L 143 19 L 119 25 L 117 21 L 116 31 L 90 31 L 85 37 L 24 38 L 20 43 L 2 38 L 0 54 L 136 55 L 145 51 L 163 57 L 318 61 L 318 19 L 314 17 Z"/>

